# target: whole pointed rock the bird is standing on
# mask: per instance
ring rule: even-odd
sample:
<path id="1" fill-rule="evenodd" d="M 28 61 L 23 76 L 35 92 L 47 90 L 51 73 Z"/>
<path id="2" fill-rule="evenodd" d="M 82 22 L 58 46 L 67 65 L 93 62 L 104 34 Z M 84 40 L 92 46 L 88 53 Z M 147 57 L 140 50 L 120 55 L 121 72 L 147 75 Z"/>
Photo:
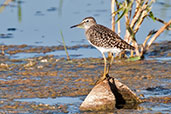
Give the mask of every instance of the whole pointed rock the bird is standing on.
<path id="1" fill-rule="evenodd" d="M 108 77 L 97 84 L 80 106 L 81 111 L 134 108 L 141 100 L 126 85 Z"/>

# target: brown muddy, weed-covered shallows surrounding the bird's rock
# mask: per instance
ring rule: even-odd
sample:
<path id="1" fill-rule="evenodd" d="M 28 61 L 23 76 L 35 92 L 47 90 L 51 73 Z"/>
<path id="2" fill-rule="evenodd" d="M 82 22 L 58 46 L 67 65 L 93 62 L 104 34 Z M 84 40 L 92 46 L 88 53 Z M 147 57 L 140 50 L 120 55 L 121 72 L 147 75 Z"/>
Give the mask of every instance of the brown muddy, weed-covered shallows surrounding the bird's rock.
<path id="1" fill-rule="evenodd" d="M 148 57 L 170 57 L 171 42 L 154 44 Z M 16 53 L 46 53 L 57 47 L 27 45 L 4 46 L 0 56 L 0 112 L 6 113 L 88 113 L 79 112 L 79 103 L 46 104 L 16 99 L 79 97 L 81 101 L 103 72 L 102 58 L 81 58 L 67 61 L 54 55 L 11 59 Z M 58 47 L 59 48 L 59 47 Z M 69 49 L 91 48 L 75 46 Z M 62 47 L 61 47 L 62 49 Z M 171 61 L 117 60 L 110 76 L 130 87 L 143 101 L 136 109 L 118 113 L 169 113 L 171 106 Z M 76 111 L 72 110 L 73 107 Z M 150 108 L 151 107 L 151 108 Z M 158 107 L 155 109 L 153 107 Z M 161 110 L 159 110 L 161 109 Z M 89 112 L 90 114 L 93 112 Z"/>

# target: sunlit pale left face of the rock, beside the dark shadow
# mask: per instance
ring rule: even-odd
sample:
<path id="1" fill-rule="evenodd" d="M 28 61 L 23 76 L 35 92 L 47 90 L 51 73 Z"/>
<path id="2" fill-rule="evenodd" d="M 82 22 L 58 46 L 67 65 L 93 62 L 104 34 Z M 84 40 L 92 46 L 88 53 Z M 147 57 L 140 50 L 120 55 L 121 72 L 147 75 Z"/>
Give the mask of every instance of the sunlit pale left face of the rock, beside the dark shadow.
<path id="1" fill-rule="evenodd" d="M 115 107 L 115 97 L 107 80 L 96 85 L 80 106 L 80 110 L 107 110 Z"/>

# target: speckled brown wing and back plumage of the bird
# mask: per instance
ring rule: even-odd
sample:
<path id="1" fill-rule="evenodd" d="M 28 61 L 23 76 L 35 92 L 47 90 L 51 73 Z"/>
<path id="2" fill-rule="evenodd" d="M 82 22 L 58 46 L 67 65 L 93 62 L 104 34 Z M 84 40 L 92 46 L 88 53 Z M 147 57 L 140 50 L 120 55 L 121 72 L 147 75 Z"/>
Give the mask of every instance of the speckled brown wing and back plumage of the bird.
<path id="1" fill-rule="evenodd" d="M 134 50 L 133 46 L 103 25 L 95 24 L 87 29 L 85 34 L 90 43 L 97 47 Z"/>

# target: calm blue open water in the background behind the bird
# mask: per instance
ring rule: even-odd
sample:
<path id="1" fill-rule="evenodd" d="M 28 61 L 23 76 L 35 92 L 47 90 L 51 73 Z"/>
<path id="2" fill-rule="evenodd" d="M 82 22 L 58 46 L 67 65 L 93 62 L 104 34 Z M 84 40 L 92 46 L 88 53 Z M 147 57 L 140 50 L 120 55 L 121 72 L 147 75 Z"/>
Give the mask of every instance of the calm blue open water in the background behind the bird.
<path id="1" fill-rule="evenodd" d="M 5 0 L 1 0 L 2 5 Z M 168 21 L 171 18 L 171 1 L 157 0 L 152 11 L 156 17 Z M 81 29 L 70 29 L 84 17 L 94 16 L 98 23 L 111 28 L 110 0 L 16 0 L 0 13 L 0 43 L 52 46 L 61 44 L 60 31 L 67 45 L 88 44 Z M 124 31 L 124 24 L 121 24 Z M 150 25 L 150 26 L 149 26 Z M 151 29 L 162 24 L 146 19 L 136 38 L 139 43 Z M 2 35 L 3 34 L 3 35 Z M 122 32 L 121 36 L 124 36 Z M 170 32 L 164 32 L 156 41 L 170 40 Z M 3 38 L 6 36 L 7 38 Z"/>

